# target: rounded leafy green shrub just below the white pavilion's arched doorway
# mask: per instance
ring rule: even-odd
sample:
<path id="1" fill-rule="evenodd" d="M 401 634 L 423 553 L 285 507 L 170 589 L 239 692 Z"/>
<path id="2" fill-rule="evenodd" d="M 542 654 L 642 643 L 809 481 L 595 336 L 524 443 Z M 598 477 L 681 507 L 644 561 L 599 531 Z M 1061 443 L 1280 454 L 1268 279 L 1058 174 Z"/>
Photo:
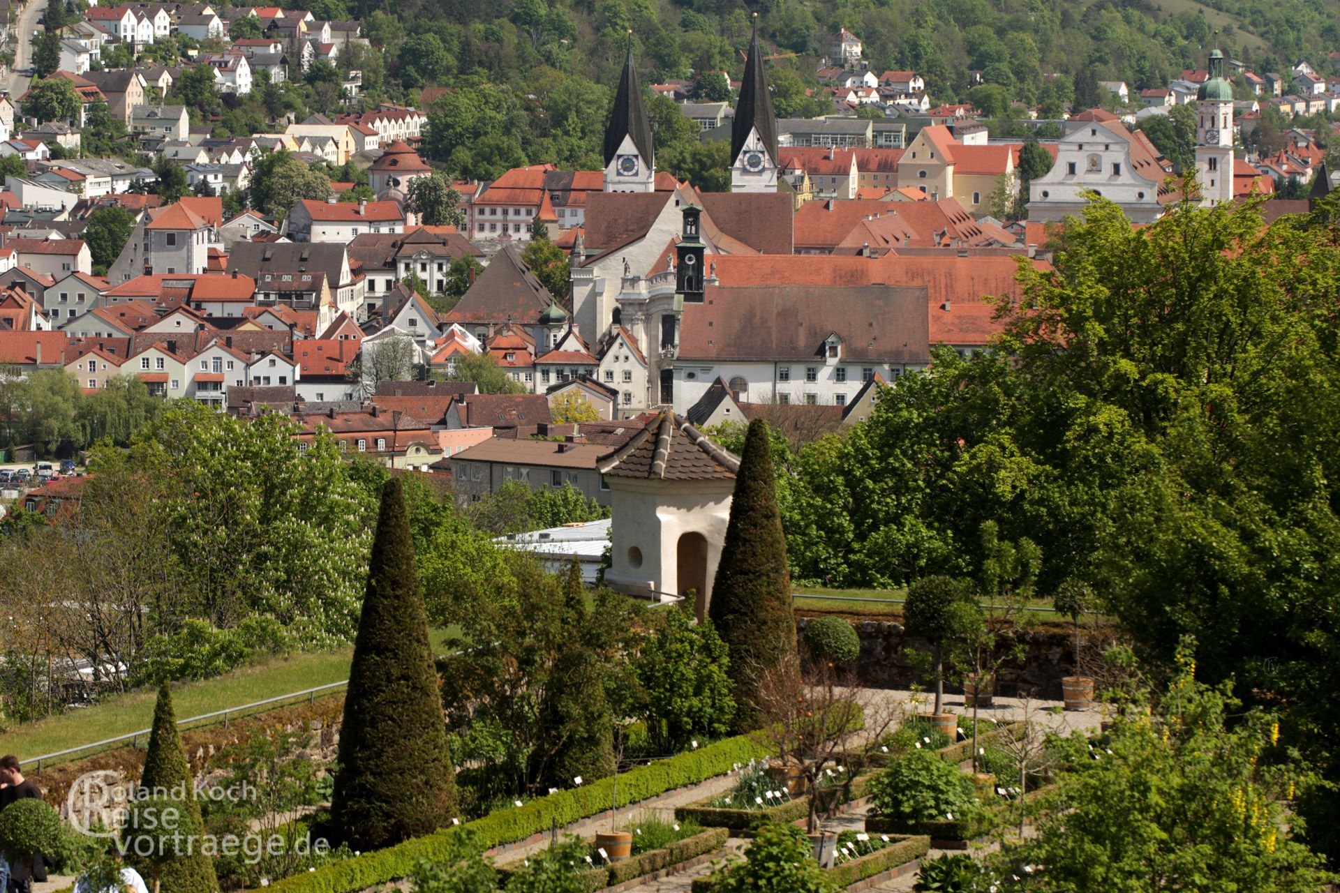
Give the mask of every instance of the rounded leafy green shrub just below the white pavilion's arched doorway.
<path id="1" fill-rule="evenodd" d="M 730 655 L 710 620 L 693 623 L 687 611 L 663 611 L 636 661 L 645 692 L 643 712 L 651 747 L 673 754 L 694 738 L 710 740 L 730 731 Z"/>

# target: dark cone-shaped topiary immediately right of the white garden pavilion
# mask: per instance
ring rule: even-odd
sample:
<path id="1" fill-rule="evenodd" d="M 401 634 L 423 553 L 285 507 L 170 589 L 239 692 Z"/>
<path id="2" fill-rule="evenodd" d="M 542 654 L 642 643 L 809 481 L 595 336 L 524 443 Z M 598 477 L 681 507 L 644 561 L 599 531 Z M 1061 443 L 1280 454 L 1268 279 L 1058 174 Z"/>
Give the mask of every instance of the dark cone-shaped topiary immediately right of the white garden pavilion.
<path id="1" fill-rule="evenodd" d="M 745 435 L 708 616 L 730 647 L 736 727 L 748 730 L 757 722 L 761 676 L 797 659 L 787 540 L 777 511 L 772 443 L 762 419 L 750 422 Z"/>

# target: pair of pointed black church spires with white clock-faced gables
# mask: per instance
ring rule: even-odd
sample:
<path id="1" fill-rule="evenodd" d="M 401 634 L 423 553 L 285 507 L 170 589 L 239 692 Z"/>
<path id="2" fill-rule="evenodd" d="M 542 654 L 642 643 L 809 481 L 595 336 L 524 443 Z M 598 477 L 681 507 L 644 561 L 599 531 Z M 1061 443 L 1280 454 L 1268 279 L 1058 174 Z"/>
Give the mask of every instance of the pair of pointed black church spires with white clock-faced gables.
<path id="1" fill-rule="evenodd" d="M 749 40 L 749 58 L 730 126 L 732 191 L 777 190 L 777 119 L 762 70 L 758 23 Z M 650 193 L 655 190 L 655 146 L 651 120 L 642 102 L 642 86 L 632 64 L 632 39 L 619 76 L 619 88 L 604 131 L 604 191 Z"/>

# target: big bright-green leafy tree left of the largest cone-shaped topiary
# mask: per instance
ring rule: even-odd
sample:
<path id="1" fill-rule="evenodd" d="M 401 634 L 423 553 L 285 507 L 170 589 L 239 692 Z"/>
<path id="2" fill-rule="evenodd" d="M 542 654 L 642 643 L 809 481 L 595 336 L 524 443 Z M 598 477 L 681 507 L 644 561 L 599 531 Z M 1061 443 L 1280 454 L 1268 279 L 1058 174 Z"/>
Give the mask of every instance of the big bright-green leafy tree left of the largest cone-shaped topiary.
<path id="1" fill-rule="evenodd" d="M 122 455 L 96 447 L 90 471 Z M 189 564 L 197 616 L 230 627 L 265 613 L 306 645 L 354 635 L 375 503 L 327 431 L 299 450 L 284 416 L 241 420 L 182 403 L 134 436 L 129 461 Z M 322 545 L 331 541 L 343 546 Z"/>

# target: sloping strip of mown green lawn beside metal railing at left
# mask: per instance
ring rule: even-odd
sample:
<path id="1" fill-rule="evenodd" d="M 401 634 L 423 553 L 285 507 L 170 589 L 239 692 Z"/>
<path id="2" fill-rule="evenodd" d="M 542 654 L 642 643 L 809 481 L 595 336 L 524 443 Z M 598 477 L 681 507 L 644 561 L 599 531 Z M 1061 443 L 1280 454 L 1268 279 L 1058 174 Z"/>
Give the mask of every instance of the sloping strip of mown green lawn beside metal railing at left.
<path id="1" fill-rule="evenodd" d="M 434 651 L 454 631 L 431 631 Z M 224 676 L 173 687 L 177 716 L 200 716 L 229 707 L 239 707 L 267 698 L 279 698 L 304 688 L 315 688 L 348 679 L 352 648 L 293 655 L 236 669 Z M 343 689 L 335 689 L 343 691 Z M 107 698 L 92 707 L 72 710 L 39 723 L 16 726 L 0 735 L 0 754 L 28 759 L 54 754 L 82 744 L 91 744 L 118 735 L 149 728 L 154 718 L 157 689 L 145 688 Z M 292 702 L 276 704 L 288 707 Z M 263 712 L 263 711 L 257 711 Z M 82 755 L 75 754 L 75 758 Z"/>

